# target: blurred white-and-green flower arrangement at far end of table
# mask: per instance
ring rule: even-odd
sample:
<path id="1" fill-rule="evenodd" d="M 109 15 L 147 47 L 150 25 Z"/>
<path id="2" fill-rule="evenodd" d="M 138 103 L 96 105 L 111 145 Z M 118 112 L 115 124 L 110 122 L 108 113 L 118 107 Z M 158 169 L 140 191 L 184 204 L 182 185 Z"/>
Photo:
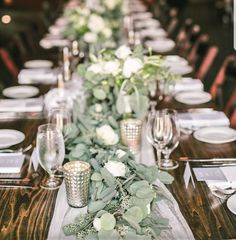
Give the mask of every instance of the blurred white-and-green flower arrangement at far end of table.
<path id="1" fill-rule="evenodd" d="M 82 50 L 96 53 L 102 48 L 115 48 L 119 42 L 122 1 L 101 0 L 67 9 L 68 25 L 64 36 L 78 40 Z"/>

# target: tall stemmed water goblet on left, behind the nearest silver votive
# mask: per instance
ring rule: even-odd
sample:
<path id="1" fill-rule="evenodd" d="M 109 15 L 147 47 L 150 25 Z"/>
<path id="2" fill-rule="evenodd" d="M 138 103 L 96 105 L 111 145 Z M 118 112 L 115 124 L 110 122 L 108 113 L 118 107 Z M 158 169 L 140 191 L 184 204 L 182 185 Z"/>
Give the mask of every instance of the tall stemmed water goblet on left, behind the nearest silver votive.
<path id="1" fill-rule="evenodd" d="M 61 180 L 54 174 L 65 157 L 65 145 L 61 131 L 56 125 L 39 126 L 36 140 L 36 151 L 39 163 L 49 174 L 49 179 L 41 183 L 44 189 L 54 190 L 60 187 Z"/>

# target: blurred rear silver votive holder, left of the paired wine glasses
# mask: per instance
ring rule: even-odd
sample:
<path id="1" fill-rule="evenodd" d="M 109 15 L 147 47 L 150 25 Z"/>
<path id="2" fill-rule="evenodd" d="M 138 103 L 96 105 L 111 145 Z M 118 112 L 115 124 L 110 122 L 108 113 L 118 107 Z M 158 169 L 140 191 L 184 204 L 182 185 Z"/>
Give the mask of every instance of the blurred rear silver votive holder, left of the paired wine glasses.
<path id="1" fill-rule="evenodd" d="M 142 121 L 125 119 L 120 122 L 121 141 L 129 147 L 133 154 L 138 154 L 141 148 Z"/>

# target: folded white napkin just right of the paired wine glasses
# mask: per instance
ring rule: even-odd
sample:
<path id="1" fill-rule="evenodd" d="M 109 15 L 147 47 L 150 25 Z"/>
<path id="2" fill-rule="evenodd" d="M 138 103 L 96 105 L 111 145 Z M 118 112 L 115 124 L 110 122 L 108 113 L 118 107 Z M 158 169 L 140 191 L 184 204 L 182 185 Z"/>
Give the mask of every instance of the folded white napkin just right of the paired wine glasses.
<path id="1" fill-rule="evenodd" d="M 230 124 L 227 116 L 218 111 L 179 113 L 178 118 L 182 128 L 229 126 Z"/>

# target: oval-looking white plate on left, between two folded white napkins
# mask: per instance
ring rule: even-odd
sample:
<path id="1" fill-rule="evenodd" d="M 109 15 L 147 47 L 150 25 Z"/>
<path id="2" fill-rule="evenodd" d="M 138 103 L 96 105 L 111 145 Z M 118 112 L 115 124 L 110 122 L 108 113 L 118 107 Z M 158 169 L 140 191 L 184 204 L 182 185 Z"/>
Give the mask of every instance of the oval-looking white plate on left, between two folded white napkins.
<path id="1" fill-rule="evenodd" d="M 39 89 L 33 86 L 14 86 L 5 88 L 2 94 L 9 98 L 30 98 L 39 93 Z"/>

